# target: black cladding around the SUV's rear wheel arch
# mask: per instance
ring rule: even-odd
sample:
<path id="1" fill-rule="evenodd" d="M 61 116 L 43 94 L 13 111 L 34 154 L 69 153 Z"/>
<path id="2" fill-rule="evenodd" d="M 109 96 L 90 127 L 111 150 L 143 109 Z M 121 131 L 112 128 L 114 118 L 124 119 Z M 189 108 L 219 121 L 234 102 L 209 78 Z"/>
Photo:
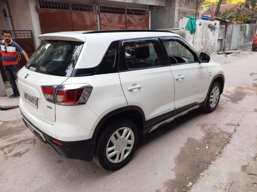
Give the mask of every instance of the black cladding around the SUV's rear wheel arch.
<path id="1" fill-rule="evenodd" d="M 93 133 L 93 140 L 99 138 L 109 123 L 122 117 L 131 119 L 137 125 L 139 135 L 143 134 L 143 130 L 145 129 L 145 116 L 143 110 L 138 106 L 125 106 L 109 112 L 100 120 Z"/>

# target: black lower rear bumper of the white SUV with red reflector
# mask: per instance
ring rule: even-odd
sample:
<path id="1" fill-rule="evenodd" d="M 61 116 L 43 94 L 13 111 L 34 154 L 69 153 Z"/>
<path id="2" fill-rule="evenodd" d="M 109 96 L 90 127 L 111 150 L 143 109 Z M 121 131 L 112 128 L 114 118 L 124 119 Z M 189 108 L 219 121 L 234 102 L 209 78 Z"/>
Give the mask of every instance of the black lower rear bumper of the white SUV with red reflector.
<path id="1" fill-rule="evenodd" d="M 80 159 L 84 161 L 91 161 L 94 158 L 96 142 L 92 139 L 82 141 L 61 141 L 55 139 L 34 126 L 23 114 L 23 121 L 30 131 L 38 137 L 42 142 L 49 144 L 57 153 L 69 159 Z M 62 144 L 62 146 L 53 143 L 52 140 Z"/>

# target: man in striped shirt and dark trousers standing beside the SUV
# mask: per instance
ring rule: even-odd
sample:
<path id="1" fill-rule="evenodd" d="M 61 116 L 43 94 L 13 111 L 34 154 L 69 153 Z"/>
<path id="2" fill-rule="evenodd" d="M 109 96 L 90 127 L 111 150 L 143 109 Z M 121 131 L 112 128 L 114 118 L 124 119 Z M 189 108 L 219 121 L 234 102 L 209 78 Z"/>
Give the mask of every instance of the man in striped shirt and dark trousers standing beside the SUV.
<path id="1" fill-rule="evenodd" d="M 15 77 L 17 77 L 17 72 L 20 70 L 18 61 L 17 61 L 17 51 L 19 51 L 25 57 L 28 62 L 29 57 L 27 53 L 12 40 L 11 31 L 4 30 L 2 32 L 3 41 L 0 41 L 1 53 L 2 53 L 2 61 L 5 69 L 5 74 L 7 76 L 8 81 L 12 86 L 13 94 L 9 96 L 9 98 L 19 97 L 20 93 L 18 91 Z"/>

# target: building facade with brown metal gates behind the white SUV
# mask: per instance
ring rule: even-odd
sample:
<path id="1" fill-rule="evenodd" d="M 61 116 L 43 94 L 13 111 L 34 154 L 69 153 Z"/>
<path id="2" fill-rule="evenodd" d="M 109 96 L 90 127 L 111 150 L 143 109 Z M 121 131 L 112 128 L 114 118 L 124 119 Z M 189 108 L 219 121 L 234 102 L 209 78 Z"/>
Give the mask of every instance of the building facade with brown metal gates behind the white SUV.
<path id="1" fill-rule="evenodd" d="M 200 0 L 0 0 L 0 30 L 60 31 L 167 29 L 200 14 Z"/>

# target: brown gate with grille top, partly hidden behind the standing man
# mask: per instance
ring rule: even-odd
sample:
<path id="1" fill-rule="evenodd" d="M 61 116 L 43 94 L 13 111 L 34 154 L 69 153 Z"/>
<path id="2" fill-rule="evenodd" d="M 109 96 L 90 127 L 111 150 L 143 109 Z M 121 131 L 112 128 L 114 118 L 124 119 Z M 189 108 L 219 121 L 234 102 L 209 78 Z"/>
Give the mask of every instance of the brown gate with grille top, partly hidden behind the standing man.
<path id="1" fill-rule="evenodd" d="M 0 30 L 0 34 L 2 34 L 2 31 L 3 30 Z M 17 44 L 19 44 L 30 57 L 35 51 L 32 32 L 30 30 L 15 30 L 15 31 L 11 31 L 11 33 L 12 33 L 12 40 L 17 42 Z M 26 65 L 26 59 L 22 55 L 21 60 L 19 61 L 19 66 L 22 68 L 25 65 Z M 2 56 L 0 57 L 0 70 L 1 70 L 3 80 L 7 81 L 4 67 L 2 65 Z"/>

